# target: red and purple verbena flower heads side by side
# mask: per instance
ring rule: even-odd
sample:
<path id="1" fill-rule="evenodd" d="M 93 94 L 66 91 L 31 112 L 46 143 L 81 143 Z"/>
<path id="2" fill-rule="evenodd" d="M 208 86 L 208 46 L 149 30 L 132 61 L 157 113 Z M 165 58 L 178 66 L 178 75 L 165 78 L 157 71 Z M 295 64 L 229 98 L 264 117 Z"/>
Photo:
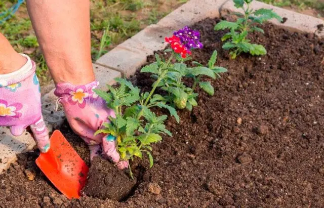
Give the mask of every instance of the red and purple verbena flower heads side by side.
<path id="1" fill-rule="evenodd" d="M 190 55 L 191 49 L 201 49 L 203 44 L 200 43 L 200 34 L 196 30 L 184 27 L 173 33 L 173 36 L 166 37 L 166 41 L 171 45 L 175 53 L 180 54 L 182 58 Z"/>

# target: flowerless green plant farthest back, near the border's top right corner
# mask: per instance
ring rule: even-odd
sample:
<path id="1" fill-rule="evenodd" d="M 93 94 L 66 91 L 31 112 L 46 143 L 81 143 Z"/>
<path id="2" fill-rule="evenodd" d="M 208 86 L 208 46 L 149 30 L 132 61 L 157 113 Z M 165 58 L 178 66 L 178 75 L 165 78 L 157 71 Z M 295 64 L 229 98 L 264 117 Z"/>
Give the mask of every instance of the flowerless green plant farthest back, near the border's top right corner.
<path id="1" fill-rule="evenodd" d="M 230 50 L 230 56 L 235 59 L 240 53 L 250 53 L 251 55 L 265 55 L 266 49 L 262 45 L 251 44 L 247 38 L 249 32 L 262 32 L 263 29 L 256 26 L 256 24 L 262 24 L 270 19 L 277 19 L 282 21 L 282 18 L 270 9 L 250 9 L 250 4 L 253 0 L 233 0 L 236 8 L 244 10 L 244 15 L 235 13 L 238 16 L 236 22 L 229 22 L 222 20 L 215 26 L 215 30 L 230 29 L 230 32 L 226 33 L 222 37 L 222 41 L 228 40 L 223 49 Z M 247 5 L 247 6 L 245 6 Z"/>

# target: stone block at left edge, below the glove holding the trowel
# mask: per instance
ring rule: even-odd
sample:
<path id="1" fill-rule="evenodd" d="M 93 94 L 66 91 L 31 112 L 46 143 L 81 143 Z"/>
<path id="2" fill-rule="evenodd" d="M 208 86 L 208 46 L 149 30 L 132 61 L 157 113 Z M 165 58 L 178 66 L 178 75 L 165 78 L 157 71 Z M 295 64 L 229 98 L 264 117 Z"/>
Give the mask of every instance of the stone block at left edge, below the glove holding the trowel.
<path id="1" fill-rule="evenodd" d="M 21 136 L 15 137 L 8 128 L 0 127 L 0 174 L 16 161 L 16 154 L 29 151 L 35 145 L 30 133 L 25 131 Z"/>

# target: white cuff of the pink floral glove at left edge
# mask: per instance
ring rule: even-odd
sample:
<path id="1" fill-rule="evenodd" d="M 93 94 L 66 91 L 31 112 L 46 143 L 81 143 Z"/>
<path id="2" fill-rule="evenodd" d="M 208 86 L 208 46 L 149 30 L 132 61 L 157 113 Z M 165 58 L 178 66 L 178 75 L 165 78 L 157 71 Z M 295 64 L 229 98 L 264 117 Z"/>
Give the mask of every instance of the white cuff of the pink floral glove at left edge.
<path id="1" fill-rule="evenodd" d="M 7 87 L 22 80 L 25 80 L 27 77 L 31 76 L 36 70 L 36 64 L 33 62 L 29 56 L 25 54 L 20 54 L 21 56 L 27 59 L 26 63 L 17 71 L 0 74 L 0 87 Z"/>

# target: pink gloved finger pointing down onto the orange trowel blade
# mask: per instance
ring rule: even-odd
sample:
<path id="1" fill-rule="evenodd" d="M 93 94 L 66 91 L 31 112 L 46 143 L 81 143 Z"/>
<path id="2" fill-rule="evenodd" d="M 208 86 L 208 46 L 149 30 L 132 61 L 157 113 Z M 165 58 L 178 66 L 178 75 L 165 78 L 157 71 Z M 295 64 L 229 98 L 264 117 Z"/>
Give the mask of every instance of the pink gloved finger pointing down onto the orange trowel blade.
<path id="1" fill-rule="evenodd" d="M 30 129 L 33 133 L 38 149 L 41 150 L 41 152 L 47 152 L 50 149 L 51 143 L 43 116 L 41 116 L 41 118 L 34 124 L 31 124 Z"/>

